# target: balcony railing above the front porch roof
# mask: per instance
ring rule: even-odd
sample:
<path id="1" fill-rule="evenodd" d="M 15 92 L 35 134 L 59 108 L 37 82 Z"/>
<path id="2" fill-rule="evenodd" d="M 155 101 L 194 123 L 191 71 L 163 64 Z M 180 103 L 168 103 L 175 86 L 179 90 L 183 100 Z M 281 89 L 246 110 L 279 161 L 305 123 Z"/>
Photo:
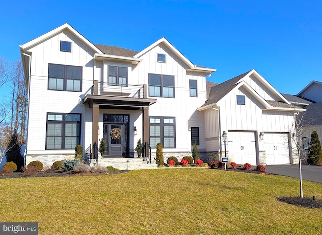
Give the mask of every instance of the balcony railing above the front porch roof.
<path id="1" fill-rule="evenodd" d="M 85 95 L 118 96 L 128 98 L 147 98 L 147 85 L 123 85 L 94 81 Z"/>

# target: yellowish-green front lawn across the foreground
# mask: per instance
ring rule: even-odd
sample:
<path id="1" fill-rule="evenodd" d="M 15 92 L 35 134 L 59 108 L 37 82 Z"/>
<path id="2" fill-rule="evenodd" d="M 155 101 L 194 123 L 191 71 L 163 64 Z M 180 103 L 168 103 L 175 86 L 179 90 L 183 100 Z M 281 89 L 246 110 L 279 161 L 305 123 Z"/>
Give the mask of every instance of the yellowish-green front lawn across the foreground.
<path id="1" fill-rule="evenodd" d="M 0 180 L 2 222 L 38 222 L 39 234 L 317 234 L 322 209 L 276 200 L 297 179 L 208 168 Z M 322 199 L 322 184 L 304 181 Z"/>

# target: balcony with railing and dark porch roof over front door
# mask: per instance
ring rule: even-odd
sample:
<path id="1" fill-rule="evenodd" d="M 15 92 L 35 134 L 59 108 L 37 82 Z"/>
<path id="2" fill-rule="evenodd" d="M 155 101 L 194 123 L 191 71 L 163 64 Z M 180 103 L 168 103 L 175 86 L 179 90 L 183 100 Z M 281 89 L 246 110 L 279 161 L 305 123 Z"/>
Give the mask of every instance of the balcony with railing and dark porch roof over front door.
<path id="1" fill-rule="evenodd" d="M 98 104 L 99 108 L 140 110 L 156 103 L 147 98 L 147 85 L 120 85 L 94 81 L 85 93 L 83 103 Z"/>

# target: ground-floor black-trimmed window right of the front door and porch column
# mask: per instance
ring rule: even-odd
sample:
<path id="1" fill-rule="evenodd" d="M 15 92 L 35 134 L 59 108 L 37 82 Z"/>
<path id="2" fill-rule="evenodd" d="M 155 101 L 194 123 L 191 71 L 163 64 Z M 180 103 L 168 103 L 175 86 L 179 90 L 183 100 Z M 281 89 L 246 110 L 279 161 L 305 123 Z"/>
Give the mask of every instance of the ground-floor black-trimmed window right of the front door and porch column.
<path id="1" fill-rule="evenodd" d="M 175 118 L 150 116 L 150 146 L 161 143 L 164 148 L 176 148 Z"/>

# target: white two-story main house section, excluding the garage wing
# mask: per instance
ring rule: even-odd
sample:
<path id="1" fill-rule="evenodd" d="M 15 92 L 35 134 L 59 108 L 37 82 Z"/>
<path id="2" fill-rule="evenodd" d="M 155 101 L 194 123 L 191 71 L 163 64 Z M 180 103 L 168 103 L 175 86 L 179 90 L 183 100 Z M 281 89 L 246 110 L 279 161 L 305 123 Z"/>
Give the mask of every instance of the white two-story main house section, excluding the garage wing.
<path id="1" fill-rule="evenodd" d="M 192 64 L 165 38 L 142 51 L 93 44 L 64 24 L 20 46 L 28 90 L 26 165 L 73 159 L 103 138 L 105 158 L 133 157 L 137 141 L 164 158 L 205 155 L 197 108 L 215 69 Z M 114 134 L 113 134 L 114 133 Z M 103 162 L 98 159 L 98 163 Z"/>

